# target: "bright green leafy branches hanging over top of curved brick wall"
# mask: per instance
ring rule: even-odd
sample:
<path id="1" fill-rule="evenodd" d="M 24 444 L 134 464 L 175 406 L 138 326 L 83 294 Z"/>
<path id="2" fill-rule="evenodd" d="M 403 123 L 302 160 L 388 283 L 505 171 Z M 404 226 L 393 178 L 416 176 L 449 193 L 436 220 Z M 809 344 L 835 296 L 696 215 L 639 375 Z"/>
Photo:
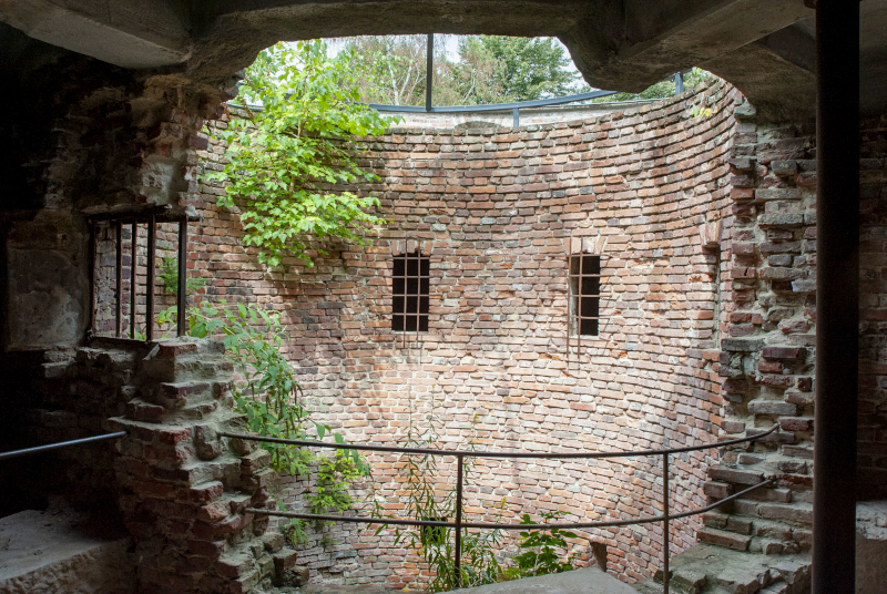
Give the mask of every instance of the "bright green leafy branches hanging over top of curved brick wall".
<path id="1" fill-rule="evenodd" d="M 322 41 L 264 50 L 239 91 L 262 110 L 216 133 L 230 161 L 205 178 L 226 185 L 220 206 L 243 198 L 244 243 L 259 248 L 259 262 L 277 266 L 292 254 L 310 265 L 313 246 L 365 244 L 361 227 L 385 223 L 371 212 L 377 198 L 343 188 L 377 180 L 358 166 L 355 137 L 379 135 L 391 122 L 357 102 L 350 61 L 349 52 L 328 59 Z"/>

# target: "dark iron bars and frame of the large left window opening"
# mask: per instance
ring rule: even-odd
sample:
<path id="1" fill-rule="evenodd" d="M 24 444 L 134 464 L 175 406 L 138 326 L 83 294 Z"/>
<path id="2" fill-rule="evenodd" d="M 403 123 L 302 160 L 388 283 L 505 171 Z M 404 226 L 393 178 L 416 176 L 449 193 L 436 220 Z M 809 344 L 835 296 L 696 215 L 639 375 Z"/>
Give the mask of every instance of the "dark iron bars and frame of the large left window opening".
<path id="1" fill-rule="evenodd" d="M 154 284 L 156 279 L 156 244 L 157 244 L 157 223 L 179 223 L 179 290 L 176 293 L 177 325 L 176 336 L 187 334 L 187 223 L 186 214 L 172 214 L 170 206 L 161 206 L 137 213 L 106 213 L 89 217 L 90 226 L 90 330 L 89 336 L 95 336 L 95 273 L 96 266 L 96 239 L 100 226 L 106 226 L 109 232 L 114 232 L 115 248 L 115 296 L 114 296 L 114 336 L 123 337 L 123 226 L 131 227 L 130 242 L 130 328 L 129 337 L 136 339 L 136 297 L 139 287 L 136 283 L 136 263 L 139 246 L 140 225 L 146 227 L 147 242 L 147 263 L 145 280 L 145 340 L 154 339 Z"/>

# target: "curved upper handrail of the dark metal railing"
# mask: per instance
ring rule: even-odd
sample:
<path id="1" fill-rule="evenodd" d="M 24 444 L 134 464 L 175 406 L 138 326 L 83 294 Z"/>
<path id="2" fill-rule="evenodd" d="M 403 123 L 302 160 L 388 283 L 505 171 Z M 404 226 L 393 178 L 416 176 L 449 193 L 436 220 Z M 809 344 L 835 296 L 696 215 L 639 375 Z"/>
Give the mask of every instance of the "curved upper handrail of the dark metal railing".
<path id="1" fill-rule="evenodd" d="M 326 441 L 310 441 L 302 439 L 284 439 L 272 438 L 264 436 L 254 436 L 248 433 L 231 433 L 227 431 L 218 431 L 218 434 L 226 438 L 244 439 L 249 441 L 266 441 L 268 443 L 286 443 L 292 445 L 315 447 L 315 448 L 330 448 L 336 450 L 364 450 L 371 452 L 395 452 L 395 453 L 421 453 L 430 455 L 461 455 L 466 458 L 541 458 L 541 459 L 605 459 L 605 458 L 632 458 L 641 455 L 663 455 L 673 453 L 684 453 L 699 450 L 710 450 L 713 448 L 722 448 L 724 445 L 734 445 L 736 443 L 744 443 L 746 441 L 756 441 L 761 438 L 769 436 L 779 426 L 775 424 L 767 431 L 756 433 L 754 436 L 746 436 L 744 438 L 731 439 L 726 441 L 717 441 L 713 443 L 705 443 L 703 445 L 689 445 L 685 448 L 671 448 L 667 450 L 632 450 L 628 452 L 514 452 L 514 451 L 483 451 L 483 450 L 441 450 L 434 448 L 400 448 L 397 445 L 375 445 L 371 443 L 328 443 Z"/>

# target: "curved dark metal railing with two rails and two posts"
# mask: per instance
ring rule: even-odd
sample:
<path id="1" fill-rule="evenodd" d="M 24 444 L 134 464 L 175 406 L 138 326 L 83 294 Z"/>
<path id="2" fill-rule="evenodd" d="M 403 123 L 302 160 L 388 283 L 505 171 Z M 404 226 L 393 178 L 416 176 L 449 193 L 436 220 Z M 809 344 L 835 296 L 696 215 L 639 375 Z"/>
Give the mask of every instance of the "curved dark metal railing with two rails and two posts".
<path id="1" fill-rule="evenodd" d="M 715 508 L 723 505 L 724 503 L 732 501 L 734 499 L 741 498 L 752 491 L 761 489 L 762 487 L 766 487 L 768 484 L 773 484 L 774 479 L 767 479 L 763 482 L 759 482 L 755 485 L 752 485 L 738 493 L 734 493 L 730 496 L 726 496 L 722 500 L 712 503 L 711 505 L 706 505 L 705 508 L 701 508 L 697 510 L 691 510 L 689 512 L 681 512 L 672 514 L 670 510 L 670 502 L 669 502 L 669 457 L 676 453 L 684 453 L 684 452 L 693 452 L 699 450 L 707 450 L 714 448 L 722 448 L 725 445 L 734 445 L 737 443 L 746 443 L 752 441 L 757 441 L 763 439 L 771 433 L 773 433 L 778 426 L 774 426 L 773 428 L 764 431 L 762 433 L 757 433 L 755 436 L 750 436 L 740 439 L 733 439 L 727 441 L 718 441 L 715 443 L 706 443 L 704 445 L 692 445 L 686 448 L 672 448 L 667 450 L 638 450 L 638 451 L 629 451 L 629 452 L 553 452 L 553 453 L 539 453 L 539 452 L 496 452 L 496 451 L 478 451 L 478 450 L 436 450 L 431 448 L 398 448 L 394 445 L 373 445 L 369 443 L 326 443 L 322 441 L 307 441 L 307 440 L 295 440 L 295 439 L 283 439 L 283 438 L 271 438 L 271 437 L 262 437 L 262 436 L 252 436 L 252 434 L 243 434 L 243 433 L 230 433 L 220 431 L 218 434 L 226 438 L 234 438 L 234 439 L 242 439 L 242 440 L 249 440 L 249 441 L 264 441 L 268 443 L 285 443 L 290 445 L 303 445 L 303 447 L 316 447 L 316 448 L 329 448 L 335 450 L 360 450 L 360 451 L 371 451 L 371 452 L 394 452 L 394 453 L 406 453 L 406 454 L 425 454 L 425 455 L 450 455 L 456 458 L 456 521 L 455 522 L 443 522 L 437 520 L 399 520 L 399 519 L 390 519 L 390 518 L 370 518 L 370 516 L 359 516 L 359 515 L 322 515 L 322 514 L 312 514 L 312 513 L 298 513 L 298 512 L 284 512 L 284 511 L 273 511 L 273 510 L 259 510 L 257 508 L 247 508 L 246 511 L 251 513 L 255 513 L 257 515 L 275 515 L 282 518 L 296 518 L 299 520 L 316 520 L 316 521 L 333 521 L 333 522 L 347 522 L 347 523 L 361 523 L 361 524 L 391 524 L 391 525 L 407 525 L 407 526 L 438 526 L 438 528 L 451 528 L 455 530 L 456 533 L 456 545 L 455 545 L 455 569 L 456 569 L 456 576 L 455 583 L 457 587 L 460 586 L 461 582 L 461 540 L 462 540 L 462 529 L 492 529 L 492 530 L 551 530 L 551 529 L 592 529 L 592 528 L 619 528 L 619 526 L 629 526 L 635 524 L 649 524 L 653 522 L 662 522 L 662 552 L 663 552 L 663 570 L 662 570 L 662 582 L 663 582 L 663 592 L 669 594 L 669 583 L 671 580 L 670 570 L 669 570 L 669 561 L 670 561 L 670 542 L 669 542 L 669 524 L 672 520 L 677 520 L 681 518 L 689 518 L 691 515 L 696 515 L 700 513 L 704 513 Z M 609 458 L 633 458 L 633 457 L 644 457 L 644 455 L 654 455 L 654 457 L 662 457 L 662 492 L 663 492 L 663 502 L 662 515 L 652 515 L 652 516 L 644 516 L 638 518 L 634 520 L 611 520 L 605 522 L 555 522 L 555 523 L 548 523 L 548 524 L 514 524 L 514 523 L 496 523 L 496 522 L 463 522 L 462 521 L 462 475 L 463 475 L 463 467 L 465 467 L 465 459 L 466 458 L 508 458 L 508 459 L 521 459 L 521 458 L 533 458 L 533 459 L 558 459 L 558 460 L 567 460 L 567 459 L 609 459 Z"/>

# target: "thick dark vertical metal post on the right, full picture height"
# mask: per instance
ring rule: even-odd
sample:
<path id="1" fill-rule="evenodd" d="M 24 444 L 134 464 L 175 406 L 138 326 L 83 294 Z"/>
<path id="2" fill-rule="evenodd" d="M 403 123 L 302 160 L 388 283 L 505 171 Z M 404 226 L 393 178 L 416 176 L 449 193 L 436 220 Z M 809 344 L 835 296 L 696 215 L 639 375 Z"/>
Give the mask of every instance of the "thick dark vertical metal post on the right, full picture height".
<path id="1" fill-rule="evenodd" d="M 856 592 L 859 2 L 816 2 L 813 594 Z"/>

